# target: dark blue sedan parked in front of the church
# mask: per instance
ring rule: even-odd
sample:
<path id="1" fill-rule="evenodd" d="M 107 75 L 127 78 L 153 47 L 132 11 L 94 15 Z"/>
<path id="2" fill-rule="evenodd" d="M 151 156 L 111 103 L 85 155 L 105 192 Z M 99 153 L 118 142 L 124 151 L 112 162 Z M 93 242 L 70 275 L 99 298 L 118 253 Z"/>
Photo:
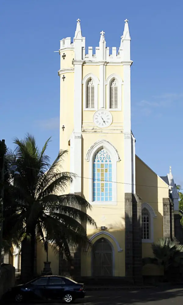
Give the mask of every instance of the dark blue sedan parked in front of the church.
<path id="1" fill-rule="evenodd" d="M 2 301 L 22 303 L 38 300 L 60 300 L 72 303 L 75 299 L 84 298 L 84 284 L 77 283 L 64 276 L 41 276 L 26 284 L 9 289 L 2 296 Z"/>

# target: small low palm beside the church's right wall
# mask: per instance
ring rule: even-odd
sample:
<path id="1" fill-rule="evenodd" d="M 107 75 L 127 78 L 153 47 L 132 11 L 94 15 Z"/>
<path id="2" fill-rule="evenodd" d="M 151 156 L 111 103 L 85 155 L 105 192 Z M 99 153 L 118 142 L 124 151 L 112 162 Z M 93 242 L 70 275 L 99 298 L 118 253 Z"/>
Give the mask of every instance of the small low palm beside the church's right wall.
<path id="1" fill-rule="evenodd" d="M 163 237 L 157 243 L 152 244 L 152 251 L 160 266 L 164 268 L 164 274 L 181 263 L 183 257 L 183 245 L 176 244 L 168 237 Z"/>

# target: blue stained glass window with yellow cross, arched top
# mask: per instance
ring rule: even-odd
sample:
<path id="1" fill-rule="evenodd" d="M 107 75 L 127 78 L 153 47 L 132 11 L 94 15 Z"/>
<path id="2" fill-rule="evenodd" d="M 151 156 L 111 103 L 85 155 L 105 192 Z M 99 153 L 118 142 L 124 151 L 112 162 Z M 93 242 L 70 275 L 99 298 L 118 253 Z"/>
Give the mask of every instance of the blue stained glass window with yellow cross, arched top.
<path id="1" fill-rule="evenodd" d="M 93 160 L 93 201 L 112 201 L 112 162 L 105 149 Z"/>

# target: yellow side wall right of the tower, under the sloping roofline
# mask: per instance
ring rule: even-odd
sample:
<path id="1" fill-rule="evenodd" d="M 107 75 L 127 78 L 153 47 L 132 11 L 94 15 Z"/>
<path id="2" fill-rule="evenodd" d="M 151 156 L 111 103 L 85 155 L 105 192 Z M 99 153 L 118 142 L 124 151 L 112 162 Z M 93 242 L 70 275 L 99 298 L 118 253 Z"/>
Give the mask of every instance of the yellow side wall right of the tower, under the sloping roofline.
<path id="1" fill-rule="evenodd" d="M 155 174 L 138 156 L 136 162 L 136 193 L 143 203 L 152 206 L 154 242 L 163 237 L 163 198 L 169 197 L 168 185 Z M 142 243 L 142 257 L 153 257 L 151 243 Z"/>

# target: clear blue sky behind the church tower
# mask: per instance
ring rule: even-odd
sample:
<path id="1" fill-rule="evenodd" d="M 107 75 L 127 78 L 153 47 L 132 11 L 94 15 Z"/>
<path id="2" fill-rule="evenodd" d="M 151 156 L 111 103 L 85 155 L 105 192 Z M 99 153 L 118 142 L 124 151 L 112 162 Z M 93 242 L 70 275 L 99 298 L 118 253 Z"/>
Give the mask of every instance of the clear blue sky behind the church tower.
<path id="1" fill-rule="evenodd" d="M 0 138 L 29 132 L 48 154 L 59 150 L 59 40 L 74 36 L 77 18 L 87 46 L 119 46 L 124 19 L 131 34 L 131 107 L 136 153 L 157 174 L 169 165 L 183 187 L 183 2 L 133 0 L 1 0 Z"/>

